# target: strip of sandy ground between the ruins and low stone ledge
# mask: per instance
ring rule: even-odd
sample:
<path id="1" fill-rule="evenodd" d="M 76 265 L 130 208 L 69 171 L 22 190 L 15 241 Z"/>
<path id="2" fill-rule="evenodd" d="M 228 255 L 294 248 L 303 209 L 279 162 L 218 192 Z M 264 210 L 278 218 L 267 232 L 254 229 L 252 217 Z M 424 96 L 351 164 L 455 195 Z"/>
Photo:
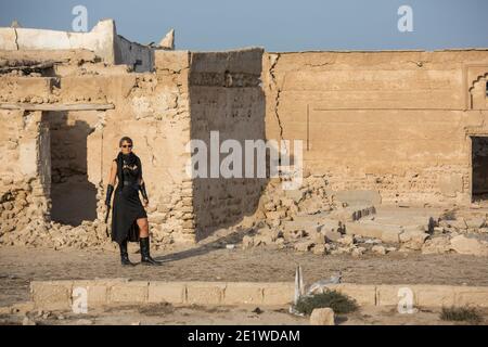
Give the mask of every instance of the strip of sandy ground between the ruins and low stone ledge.
<path id="1" fill-rule="evenodd" d="M 394 252 L 354 258 L 208 245 L 180 252 L 158 250 L 153 256 L 164 265 L 126 268 L 119 265 L 118 254 L 106 250 L 1 247 L 0 306 L 28 300 L 33 280 L 294 281 L 297 264 L 303 267 L 306 283 L 341 270 L 343 282 L 348 283 L 488 285 L 488 259 L 457 254 Z M 140 259 L 139 254 L 130 257 L 133 261 Z"/>

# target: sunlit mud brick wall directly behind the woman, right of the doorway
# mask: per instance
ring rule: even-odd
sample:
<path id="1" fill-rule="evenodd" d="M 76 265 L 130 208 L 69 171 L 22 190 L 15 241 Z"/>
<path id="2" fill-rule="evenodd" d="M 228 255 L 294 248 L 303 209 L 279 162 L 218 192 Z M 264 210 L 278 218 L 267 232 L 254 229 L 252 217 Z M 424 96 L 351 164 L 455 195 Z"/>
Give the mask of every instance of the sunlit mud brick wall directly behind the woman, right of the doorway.
<path id="1" fill-rule="evenodd" d="M 116 108 L 106 112 L 103 128 L 104 180 L 119 151 L 119 138 L 129 136 L 134 141 L 155 242 L 195 240 L 191 181 L 184 175 L 190 156 L 184 150 L 190 140 L 189 70 L 189 52 L 155 52 L 155 73 L 132 74 L 127 89 L 117 94 Z"/>

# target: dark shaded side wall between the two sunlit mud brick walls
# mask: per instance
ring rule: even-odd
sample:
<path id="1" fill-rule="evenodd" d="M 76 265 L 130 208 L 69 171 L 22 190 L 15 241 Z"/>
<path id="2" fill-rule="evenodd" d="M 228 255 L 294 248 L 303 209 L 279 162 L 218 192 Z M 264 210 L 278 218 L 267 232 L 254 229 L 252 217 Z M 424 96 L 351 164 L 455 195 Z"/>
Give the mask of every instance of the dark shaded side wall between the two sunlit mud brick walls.
<path id="1" fill-rule="evenodd" d="M 220 143 L 265 139 L 265 95 L 260 87 L 261 49 L 192 53 L 190 74 L 191 138 L 210 151 L 210 131 Z M 244 152 L 244 151 L 243 151 Z M 221 154 L 221 160 L 227 154 Z M 193 180 L 197 236 L 239 222 L 255 211 L 266 179 L 207 178 Z M 244 165 L 243 165 L 244 170 Z"/>

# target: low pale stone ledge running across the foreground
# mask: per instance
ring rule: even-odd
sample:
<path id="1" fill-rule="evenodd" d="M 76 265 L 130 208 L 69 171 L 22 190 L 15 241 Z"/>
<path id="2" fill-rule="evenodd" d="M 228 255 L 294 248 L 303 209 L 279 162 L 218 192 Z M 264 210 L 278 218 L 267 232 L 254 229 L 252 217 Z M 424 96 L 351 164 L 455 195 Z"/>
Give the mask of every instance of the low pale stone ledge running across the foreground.
<path id="1" fill-rule="evenodd" d="M 157 303 L 287 306 L 294 287 L 293 282 L 33 281 L 30 296 L 36 309 L 47 310 L 70 309 L 80 293 L 86 293 L 88 308 Z M 407 299 L 414 307 L 488 307 L 488 286 L 341 283 L 330 288 L 352 297 L 360 306 L 397 306 Z"/>

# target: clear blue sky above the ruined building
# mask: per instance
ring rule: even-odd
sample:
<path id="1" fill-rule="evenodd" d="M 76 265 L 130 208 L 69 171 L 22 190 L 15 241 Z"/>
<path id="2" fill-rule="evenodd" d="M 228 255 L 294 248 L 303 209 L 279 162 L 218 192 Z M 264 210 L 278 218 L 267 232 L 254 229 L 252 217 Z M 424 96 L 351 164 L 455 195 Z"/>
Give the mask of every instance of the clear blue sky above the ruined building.
<path id="1" fill-rule="evenodd" d="M 75 5 L 88 27 L 114 18 L 118 34 L 141 43 L 176 30 L 176 48 L 267 51 L 488 48 L 488 0 L 0 0 L 0 26 L 72 30 Z M 397 28 L 400 5 L 413 31 Z"/>

